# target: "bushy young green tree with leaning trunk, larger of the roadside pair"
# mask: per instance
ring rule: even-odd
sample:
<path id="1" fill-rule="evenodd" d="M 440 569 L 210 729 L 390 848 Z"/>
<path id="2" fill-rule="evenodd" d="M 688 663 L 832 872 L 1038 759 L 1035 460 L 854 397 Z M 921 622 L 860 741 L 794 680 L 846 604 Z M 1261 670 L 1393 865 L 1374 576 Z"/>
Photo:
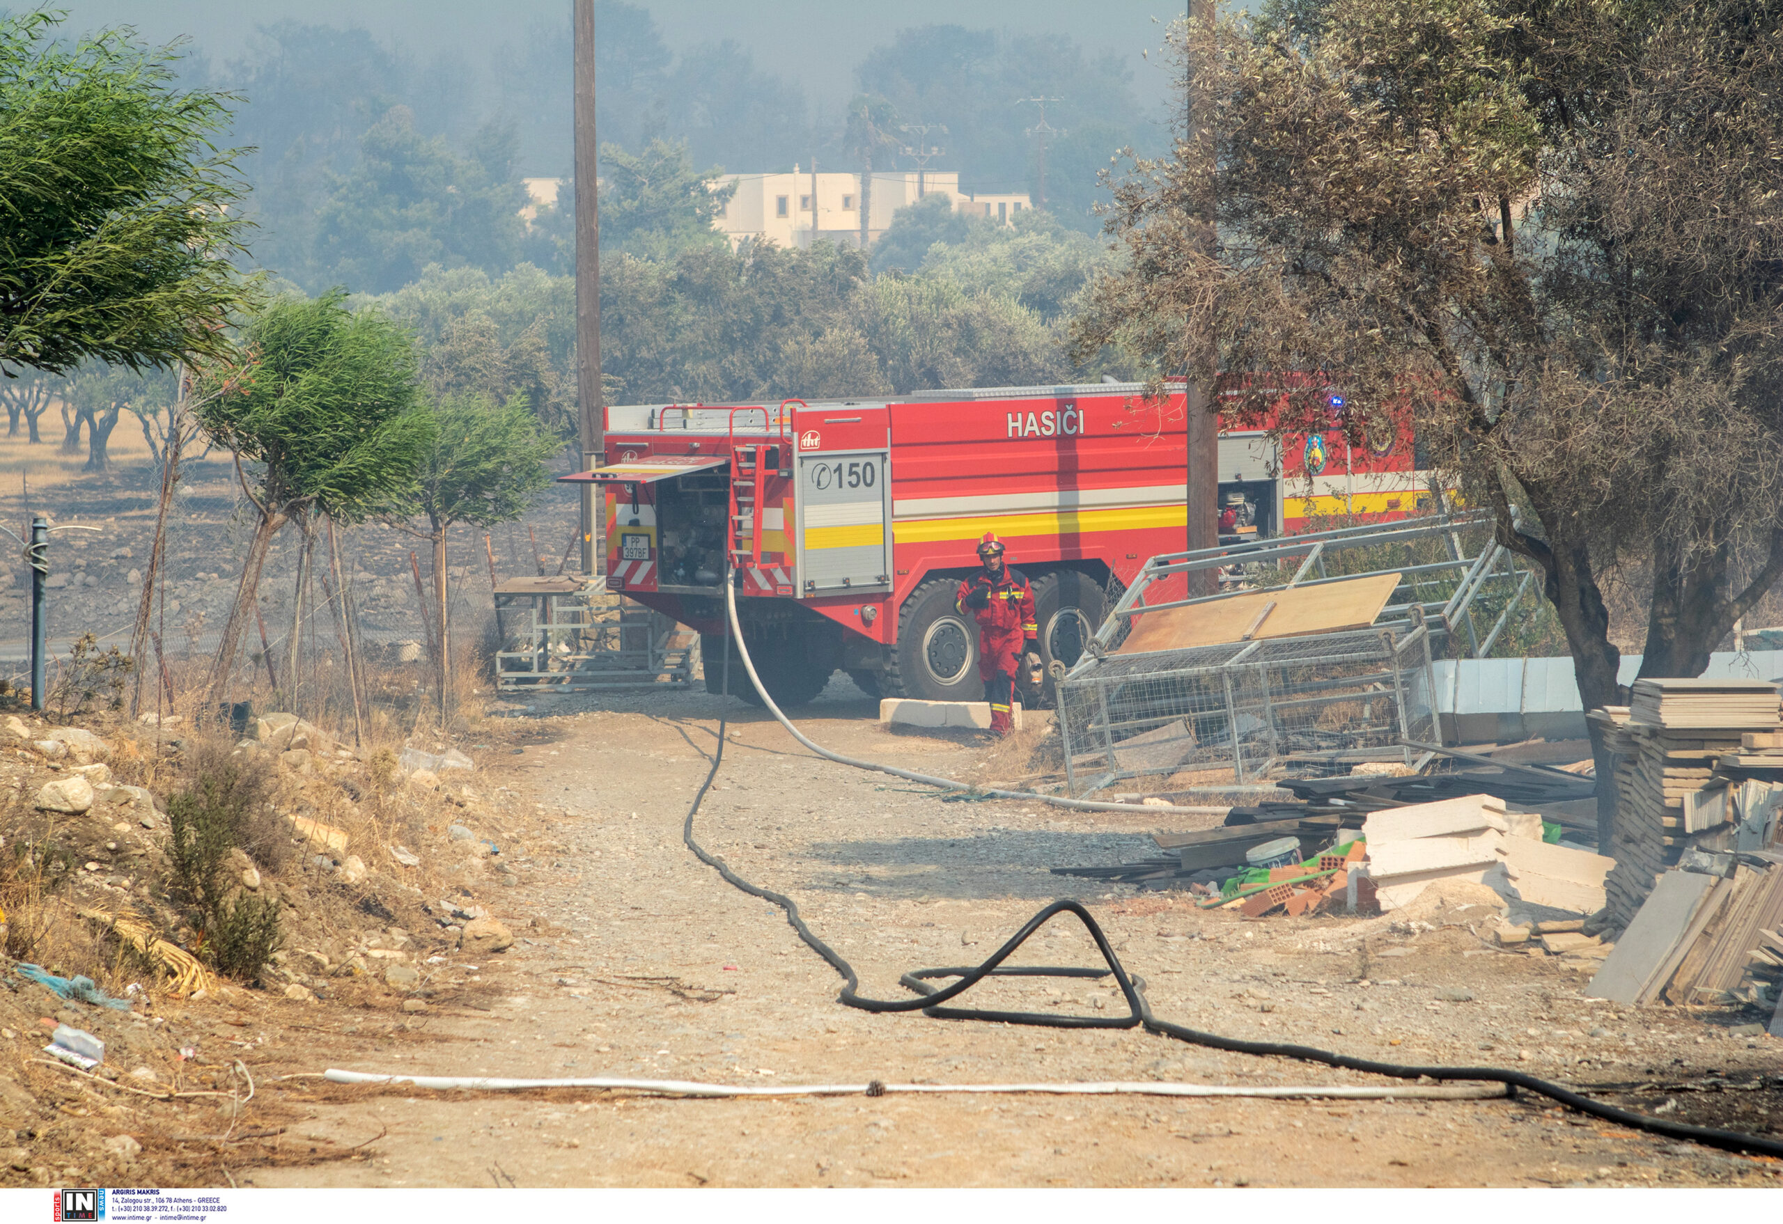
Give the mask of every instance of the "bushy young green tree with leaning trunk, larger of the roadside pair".
<path id="1" fill-rule="evenodd" d="M 362 522 L 414 495 L 431 437 L 414 346 L 387 314 L 351 312 L 342 299 L 335 290 L 273 301 L 250 321 L 237 358 L 203 371 L 198 420 L 235 453 L 259 515 L 210 672 L 214 702 L 226 693 L 273 536 L 289 522 L 307 531 L 317 513 Z"/>

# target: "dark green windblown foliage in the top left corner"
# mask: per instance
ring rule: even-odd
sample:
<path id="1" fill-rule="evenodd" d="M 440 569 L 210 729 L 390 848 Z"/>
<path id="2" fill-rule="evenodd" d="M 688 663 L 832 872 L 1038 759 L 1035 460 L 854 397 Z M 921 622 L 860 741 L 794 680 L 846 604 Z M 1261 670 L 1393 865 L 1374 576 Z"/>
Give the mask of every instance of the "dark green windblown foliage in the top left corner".
<path id="1" fill-rule="evenodd" d="M 221 355 L 241 305 L 242 187 L 225 98 L 173 87 L 173 50 L 0 18 L 0 372 Z"/>

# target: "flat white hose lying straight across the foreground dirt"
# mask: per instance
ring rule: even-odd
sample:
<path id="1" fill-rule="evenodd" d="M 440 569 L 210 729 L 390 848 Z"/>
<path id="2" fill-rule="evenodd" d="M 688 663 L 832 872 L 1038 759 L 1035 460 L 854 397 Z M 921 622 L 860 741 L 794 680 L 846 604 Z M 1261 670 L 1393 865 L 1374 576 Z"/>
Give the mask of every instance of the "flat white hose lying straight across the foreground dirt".
<path id="1" fill-rule="evenodd" d="M 588 1076 L 581 1080 L 499 1080 L 490 1076 L 407 1076 L 373 1074 L 367 1071 L 325 1073 L 330 1083 L 390 1083 L 414 1089 L 471 1090 L 471 1092 L 524 1092 L 528 1089 L 626 1089 L 658 1096 L 742 1098 L 742 1096 L 892 1096 L 895 1092 L 993 1092 L 993 1094 L 1050 1094 L 1050 1096 L 1252 1096 L 1252 1098 L 1319 1098 L 1334 1101 L 1480 1101 L 1505 1096 L 1503 1083 L 1407 1083 L 1385 1087 L 1352 1085 L 1286 1085 L 1286 1087 L 1230 1087 L 1225 1083 L 1168 1083 L 1148 1080 L 1102 1080 L 1080 1083 L 776 1083 L 731 1085 L 701 1083 L 697 1080 L 613 1080 Z"/>

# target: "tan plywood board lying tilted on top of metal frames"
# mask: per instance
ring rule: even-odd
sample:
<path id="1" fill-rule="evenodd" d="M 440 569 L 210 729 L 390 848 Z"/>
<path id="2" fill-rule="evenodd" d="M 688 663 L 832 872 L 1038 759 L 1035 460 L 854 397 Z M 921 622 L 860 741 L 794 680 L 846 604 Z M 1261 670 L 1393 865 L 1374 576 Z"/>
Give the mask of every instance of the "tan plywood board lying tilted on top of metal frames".
<path id="1" fill-rule="evenodd" d="M 1309 632 L 1366 629 L 1375 624 L 1398 586 L 1398 574 L 1376 574 L 1344 583 L 1278 586 L 1189 608 L 1166 608 L 1139 616 L 1139 624 L 1127 634 L 1118 654 L 1212 647 L 1221 641 L 1245 641 L 1246 632 L 1250 638 L 1300 638 Z M 1271 602 L 1275 608 L 1262 624 L 1257 624 L 1257 616 Z"/>

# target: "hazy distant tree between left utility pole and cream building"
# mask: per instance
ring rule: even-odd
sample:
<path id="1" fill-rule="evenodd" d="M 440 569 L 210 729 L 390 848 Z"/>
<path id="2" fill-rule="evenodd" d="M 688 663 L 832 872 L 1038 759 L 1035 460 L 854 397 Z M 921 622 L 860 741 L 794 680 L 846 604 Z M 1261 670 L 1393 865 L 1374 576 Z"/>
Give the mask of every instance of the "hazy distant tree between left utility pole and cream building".
<path id="1" fill-rule="evenodd" d="M 642 258 L 674 258 L 690 246 L 713 246 L 711 228 L 736 194 L 735 184 L 713 187 L 724 171 L 694 169 L 686 144 L 654 139 L 637 153 L 601 146 L 601 246 Z"/>

